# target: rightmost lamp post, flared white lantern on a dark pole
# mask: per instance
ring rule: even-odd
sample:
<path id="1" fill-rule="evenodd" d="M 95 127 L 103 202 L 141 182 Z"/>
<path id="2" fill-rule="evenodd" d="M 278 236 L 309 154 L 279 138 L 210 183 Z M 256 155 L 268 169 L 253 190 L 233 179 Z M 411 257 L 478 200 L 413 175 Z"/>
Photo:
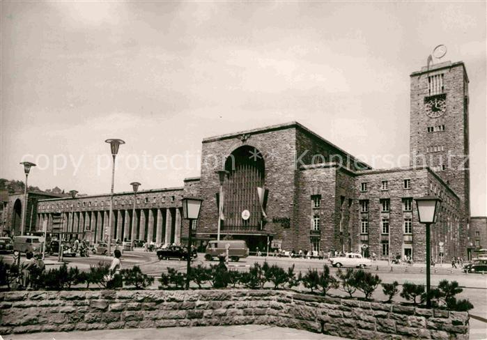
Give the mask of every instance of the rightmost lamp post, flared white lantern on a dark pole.
<path id="1" fill-rule="evenodd" d="M 436 196 L 424 196 L 415 199 L 419 223 L 426 224 L 426 308 L 431 308 L 431 245 L 430 225 L 436 223 L 438 207 L 442 201 Z"/>

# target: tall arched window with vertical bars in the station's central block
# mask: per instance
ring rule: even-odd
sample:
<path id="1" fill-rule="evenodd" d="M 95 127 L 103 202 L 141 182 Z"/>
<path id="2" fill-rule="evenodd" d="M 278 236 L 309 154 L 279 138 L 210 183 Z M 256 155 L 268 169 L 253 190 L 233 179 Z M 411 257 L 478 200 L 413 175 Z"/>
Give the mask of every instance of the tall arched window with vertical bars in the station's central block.
<path id="1" fill-rule="evenodd" d="M 225 162 L 229 180 L 224 185 L 223 229 L 227 231 L 255 231 L 261 229 L 262 212 L 257 187 L 263 187 L 265 164 L 262 153 L 252 146 L 233 150 Z M 242 212 L 249 211 L 249 219 Z"/>

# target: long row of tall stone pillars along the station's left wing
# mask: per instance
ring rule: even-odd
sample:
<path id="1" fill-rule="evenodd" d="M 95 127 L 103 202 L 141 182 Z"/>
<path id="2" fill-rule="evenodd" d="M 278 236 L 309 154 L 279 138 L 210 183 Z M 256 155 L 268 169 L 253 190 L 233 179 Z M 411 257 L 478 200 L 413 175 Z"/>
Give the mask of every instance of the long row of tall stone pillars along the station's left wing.
<path id="1" fill-rule="evenodd" d="M 180 244 L 181 208 L 148 208 L 114 210 L 111 238 L 114 240 L 145 240 L 158 244 Z M 39 212 L 37 230 L 62 232 L 63 238 L 87 240 L 92 243 L 107 240 L 109 210 Z"/>

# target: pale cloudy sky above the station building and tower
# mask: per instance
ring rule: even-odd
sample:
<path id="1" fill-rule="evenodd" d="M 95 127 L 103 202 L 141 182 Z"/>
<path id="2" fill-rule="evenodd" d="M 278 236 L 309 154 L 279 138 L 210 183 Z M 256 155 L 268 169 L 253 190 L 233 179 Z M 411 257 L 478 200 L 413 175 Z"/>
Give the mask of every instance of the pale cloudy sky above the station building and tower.
<path id="1" fill-rule="evenodd" d="M 288 121 L 407 166 L 410 73 L 470 77 L 472 215 L 486 215 L 486 2 L 1 1 L 0 177 L 109 192 L 199 176 L 201 140 Z M 389 164 L 386 155 L 394 155 Z M 165 158 L 164 158 L 165 157 Z M 167 160 L 168 163 L 161 162 Z M 167 164 L 167 166 L 164 166 Z"/>

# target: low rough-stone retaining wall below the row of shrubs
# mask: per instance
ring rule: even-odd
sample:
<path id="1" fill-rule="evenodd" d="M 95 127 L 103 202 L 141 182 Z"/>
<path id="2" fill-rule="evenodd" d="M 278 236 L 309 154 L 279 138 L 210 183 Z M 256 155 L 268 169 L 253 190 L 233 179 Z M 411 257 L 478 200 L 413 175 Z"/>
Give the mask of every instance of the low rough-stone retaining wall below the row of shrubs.
<path id="1" fill-rule="evenodd" d="M 468 339 L 466 312 L 287 291 L 0 293 L 0 334 L 210 325 L 276 325 L 355 339 Z"/>

